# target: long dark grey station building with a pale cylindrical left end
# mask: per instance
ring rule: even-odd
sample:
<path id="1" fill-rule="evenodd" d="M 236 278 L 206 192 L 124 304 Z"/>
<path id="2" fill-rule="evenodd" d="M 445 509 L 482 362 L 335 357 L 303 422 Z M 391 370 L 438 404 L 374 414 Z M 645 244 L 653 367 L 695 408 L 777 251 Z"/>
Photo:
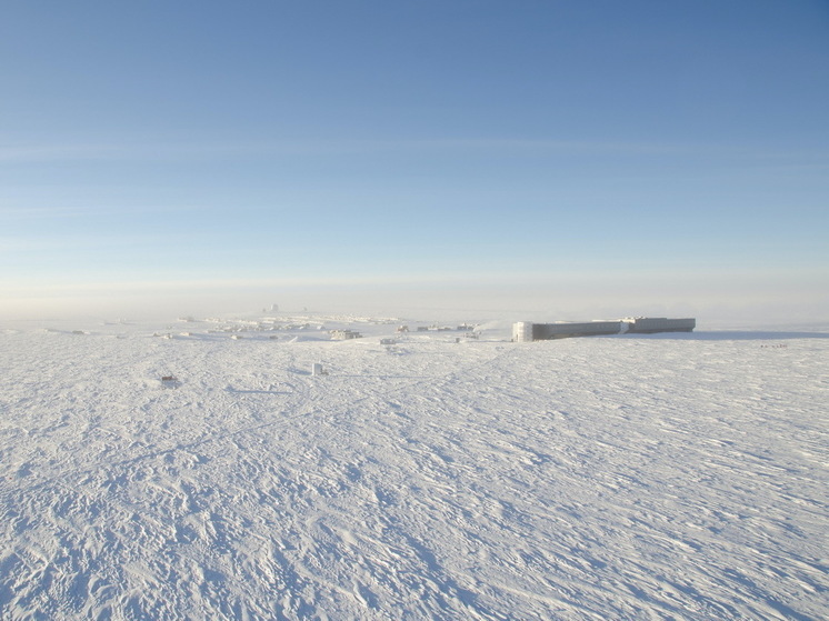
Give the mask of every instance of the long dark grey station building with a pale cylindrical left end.
<path id="1" fill-rule="evenodd" d="M 655 334 L 657 332 L 691 332 L 697 320 L 668 319 L 666 317 L 635 317 L 615 321 L 582 321 L 557 323 L 531 323 L 519 321 L 512 325 L 512 340 L 517 342 L 548 341 L 572 337 L 596 337 L 600 334 Z"/>

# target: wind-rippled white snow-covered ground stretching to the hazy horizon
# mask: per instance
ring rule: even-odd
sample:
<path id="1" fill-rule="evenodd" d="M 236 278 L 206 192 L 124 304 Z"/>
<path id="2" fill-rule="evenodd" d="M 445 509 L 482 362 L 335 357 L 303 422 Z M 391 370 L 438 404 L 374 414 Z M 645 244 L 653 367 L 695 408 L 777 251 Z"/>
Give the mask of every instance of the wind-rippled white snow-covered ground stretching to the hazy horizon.
<path id="1" fill-rule="evenodd" d="M 0 617 L 829 615 L 829 333 L 402 322 L 0 325 Z"/>

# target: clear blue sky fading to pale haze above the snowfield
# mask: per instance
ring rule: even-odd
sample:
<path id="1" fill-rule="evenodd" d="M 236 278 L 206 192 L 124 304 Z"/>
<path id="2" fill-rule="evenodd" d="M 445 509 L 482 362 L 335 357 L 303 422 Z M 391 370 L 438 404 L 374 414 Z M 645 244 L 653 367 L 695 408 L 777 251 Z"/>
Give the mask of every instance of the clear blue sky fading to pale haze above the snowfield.
<path id="1" fill-rule="evenodd" d="M 826 0 L 9 0 L 0 88 L 0 319 L 829 321 Z"/>

